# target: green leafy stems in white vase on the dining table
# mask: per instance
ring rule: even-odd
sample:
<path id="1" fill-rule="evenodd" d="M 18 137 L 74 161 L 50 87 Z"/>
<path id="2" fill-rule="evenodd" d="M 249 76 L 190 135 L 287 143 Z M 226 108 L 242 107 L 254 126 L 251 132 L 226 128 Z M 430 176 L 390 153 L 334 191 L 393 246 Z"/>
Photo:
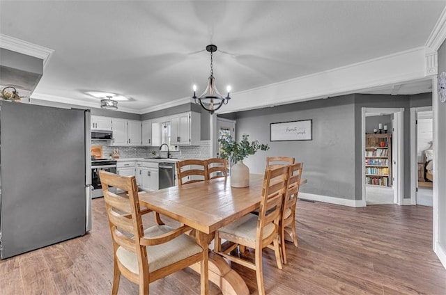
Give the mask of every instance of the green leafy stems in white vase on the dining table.
<path id="1" fill-rule="evenodd" d="M 242 140 L 238 143 L 229 134 L 220 137 L 220 157 L 229 159 L 235 165 L 231 167 L 231 186 L 249 186 L 249 168 L 243 164 L 243 159 L 258 150 L 269 150 L 268 145 L 259 141 L 249 142 L 248 134 L 243 134 Z"/>

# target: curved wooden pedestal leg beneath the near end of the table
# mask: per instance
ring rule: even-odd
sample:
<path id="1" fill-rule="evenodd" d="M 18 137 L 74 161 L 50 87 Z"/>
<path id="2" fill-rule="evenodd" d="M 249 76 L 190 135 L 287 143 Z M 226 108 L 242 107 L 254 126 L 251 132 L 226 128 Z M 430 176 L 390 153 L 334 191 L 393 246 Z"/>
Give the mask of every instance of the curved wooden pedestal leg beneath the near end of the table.
<path id="1" fill-rule="evenodd" d="M 190 266 L 200 273 L 200 263 Z M 240 275 L 229 267 L 226 260 L 218 254 L 209 253 L 209 280 L 217 285 L 224 295 L 248 295 L 249 289 Z"/>

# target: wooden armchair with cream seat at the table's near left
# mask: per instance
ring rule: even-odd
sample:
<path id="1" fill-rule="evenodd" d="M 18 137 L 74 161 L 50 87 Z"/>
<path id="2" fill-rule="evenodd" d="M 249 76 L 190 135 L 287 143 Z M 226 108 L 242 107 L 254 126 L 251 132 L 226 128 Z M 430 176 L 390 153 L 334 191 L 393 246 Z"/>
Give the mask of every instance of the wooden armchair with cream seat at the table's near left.
<path id="1" fill-rule="evenodd" d="M 191 229 L 185 225 L 154 225 L 144 230 L 135 177 L 106 171 L 99 175 L 114 249 L 112 294 L 118 293 L 121 274 L 139 285 L 140 295 L 146 295 L 151 282 L 197 262 L 201 263 L 201 294 L 208 294 L 206 242 L 200 246 L 184 234 Z M 110 186 L 125 193 L 117 195 L 109 191 Z"/>

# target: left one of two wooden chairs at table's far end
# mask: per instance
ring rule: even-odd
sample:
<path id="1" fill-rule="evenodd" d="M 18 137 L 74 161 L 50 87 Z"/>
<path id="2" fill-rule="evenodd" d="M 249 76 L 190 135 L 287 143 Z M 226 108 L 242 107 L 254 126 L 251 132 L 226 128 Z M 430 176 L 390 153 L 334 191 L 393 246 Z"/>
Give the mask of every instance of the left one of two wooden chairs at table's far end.
<path id="1" fill-rule="evenodd" d="M 204 160 L 190 159 L 176 162 L 178 186 L 208 180 L 208 170 Z"/>

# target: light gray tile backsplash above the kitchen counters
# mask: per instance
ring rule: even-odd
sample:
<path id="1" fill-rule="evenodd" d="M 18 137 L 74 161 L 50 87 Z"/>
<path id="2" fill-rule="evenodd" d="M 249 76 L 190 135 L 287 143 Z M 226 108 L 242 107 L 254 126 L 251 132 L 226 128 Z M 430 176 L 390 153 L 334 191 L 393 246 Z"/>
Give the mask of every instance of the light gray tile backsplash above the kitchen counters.
<path id="1" fill-rule="evenodd" d="M 113 147 L 108 141 L 91 141 L 91 146 L 102 146 L 102 158 L 110 157 L 113 150 L 118 150 L 120 158 L 146 158 L 153 157 L 152 152 L 166 157 L 167 151 L 163 152 L 158 147 Z M 171 155 L 177 159 L 208 159 L 210 158 L 210 141 L 201 141 L 199 146 L 180 146 L 178 151 L 171 151 Z"/>

